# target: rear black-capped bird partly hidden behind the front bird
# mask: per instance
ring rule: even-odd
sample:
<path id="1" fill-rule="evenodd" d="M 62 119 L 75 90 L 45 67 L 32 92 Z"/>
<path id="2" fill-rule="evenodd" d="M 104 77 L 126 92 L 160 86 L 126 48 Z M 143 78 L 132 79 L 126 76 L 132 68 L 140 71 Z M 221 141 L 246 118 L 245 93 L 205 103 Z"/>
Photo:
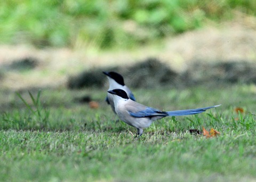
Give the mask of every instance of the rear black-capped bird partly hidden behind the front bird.
<path id="1" fill-rule="evenodd" d="M 108 81 L 109 81 L 109 89 L 108 90 L 114 90 L 114 89 L 122 89 L 127 93 L 127 96 L 135 101 L 135 97 L 132 93 L 132 91 L 124 84 L 124 78 L 121 74 L 116 72 L 103 72 L 103 74 L 107 75 Z M 111 106 L 112 110 L 115 111 L 115 105 L 113 101 L 113 95 L 110 93 L 107 93 L 106 102 Z"/>

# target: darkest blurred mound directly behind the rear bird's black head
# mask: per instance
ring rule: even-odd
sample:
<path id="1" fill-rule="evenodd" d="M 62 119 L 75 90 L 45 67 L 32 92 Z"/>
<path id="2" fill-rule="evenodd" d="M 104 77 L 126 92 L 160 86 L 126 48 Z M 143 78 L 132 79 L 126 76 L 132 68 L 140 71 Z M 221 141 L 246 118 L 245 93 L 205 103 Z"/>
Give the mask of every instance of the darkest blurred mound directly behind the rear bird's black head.
<path id="1" fill-rule="evenodd" d="M 122 73 L 125 83 L 133 88 L 155 88 L 166 83 L 177 81 L 178 73 L 171 70 L 156 58 L 148 58 L 129 67 L 105 67 L 92 71 L 85 71 L 68 80 L 68 88 L 79 89 L 83 87 L 102 87 L 106 84 L 106 76 L 102 71 L 115 71 Z"/>

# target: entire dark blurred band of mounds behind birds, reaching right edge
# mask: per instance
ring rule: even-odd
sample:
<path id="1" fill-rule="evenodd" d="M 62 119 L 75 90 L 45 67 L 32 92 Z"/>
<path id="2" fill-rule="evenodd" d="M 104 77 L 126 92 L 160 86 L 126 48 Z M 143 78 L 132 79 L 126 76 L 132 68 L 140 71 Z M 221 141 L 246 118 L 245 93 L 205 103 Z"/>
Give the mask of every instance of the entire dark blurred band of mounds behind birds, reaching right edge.
<path id="1" fill-rule="evenodd" d="M 68 88 L 102 88 L 106 84 L 102 71 L 115 71 L 124 76 L 126 85 L 133 88 L 185 87 L 191 85 L 215 85 L 225 83 L 256 83 L 256 65 L 246 61 L 205 63 L 194 62 L 182 73 L 175 72 L 156 58 L 131 67 L 108 67 L 82 72 L 71 76 Z"/>

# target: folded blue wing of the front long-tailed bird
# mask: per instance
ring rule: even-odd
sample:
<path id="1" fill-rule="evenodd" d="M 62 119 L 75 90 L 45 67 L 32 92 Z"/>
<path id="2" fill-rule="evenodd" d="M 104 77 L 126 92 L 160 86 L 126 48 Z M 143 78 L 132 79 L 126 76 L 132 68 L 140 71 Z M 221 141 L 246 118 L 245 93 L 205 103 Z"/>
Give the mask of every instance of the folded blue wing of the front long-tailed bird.
<path id="1" fill-rule="evenodd" d="M 132 111 L 129 111 L 129 114 L 133 117 L 153 117 L 153 116 L 168 116 L 168 114 L 164 111 L 161 111 L 161 110 L 158 110 L 158 109 L 154 109 L 154 108 L 151 108 L 151 107 L 146 107 L 145 110 L 141 110 L 139 112 L 132 112 Z"/>

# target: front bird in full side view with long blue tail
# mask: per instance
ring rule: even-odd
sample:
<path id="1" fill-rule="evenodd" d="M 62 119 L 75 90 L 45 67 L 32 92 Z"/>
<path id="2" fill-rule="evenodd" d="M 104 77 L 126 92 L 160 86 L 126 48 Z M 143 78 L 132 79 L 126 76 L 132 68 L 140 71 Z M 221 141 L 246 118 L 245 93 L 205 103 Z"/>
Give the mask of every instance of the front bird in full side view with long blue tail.
<path id="1" fill-rule="evenodd" d="M 126 124 L 137 128 L 138 138 L 142 135 L 143 128 L 149 127 L 154 120 L 166 116 L 194 115 L 204 112 L 207 109 L 220 106 L 216 105 L 198 109 L 161 111 L 131 100 L 122 89 L 109 90 L 108 93 L 113 95 L 116 114 Z"/>

